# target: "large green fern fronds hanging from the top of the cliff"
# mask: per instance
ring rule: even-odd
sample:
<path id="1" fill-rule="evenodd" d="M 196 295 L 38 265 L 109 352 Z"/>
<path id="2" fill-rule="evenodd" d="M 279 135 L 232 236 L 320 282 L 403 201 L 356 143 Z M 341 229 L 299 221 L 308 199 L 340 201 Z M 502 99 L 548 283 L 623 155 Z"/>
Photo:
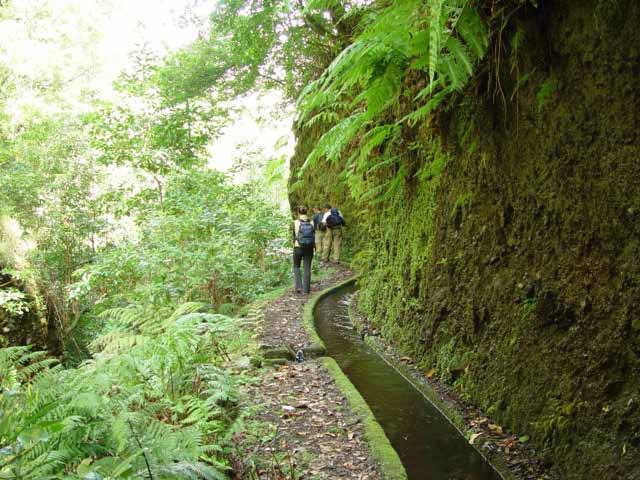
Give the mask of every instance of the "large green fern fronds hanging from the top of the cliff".
<path id="1" fill-rule="evenodd" d="M 304 127 L 329 125 L 302 171 L 323 158 L 338 162 L 345 151 L 352 152 L 344 166 L 352 194 L 388 198 L 411 161 L 406 149 L 398 148 L 404 131 L 425 122 L 467 84 L 486 52 L 487 33 L 469 2 L 457 0 L 398 0 L 372 7 L 359 29 L 298 101 Z M 406 87 L 407 79 L 420 76 L 428 81 L 417 93 Z M 392 114 L 399 119 L 390 123 Z M 378 185 L 368 180 L 374 172 L 381 177 Z"/>

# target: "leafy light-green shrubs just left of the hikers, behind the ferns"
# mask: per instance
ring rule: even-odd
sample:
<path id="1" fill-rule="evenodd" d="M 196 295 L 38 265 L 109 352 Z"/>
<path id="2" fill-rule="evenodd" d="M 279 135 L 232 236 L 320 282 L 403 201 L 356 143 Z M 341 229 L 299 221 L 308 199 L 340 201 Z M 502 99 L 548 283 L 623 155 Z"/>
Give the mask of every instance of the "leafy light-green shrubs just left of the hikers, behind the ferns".
<path id="1" fill-rule="evenodd" d="M 104 250 L 76 271 L 72 296 L 100 308 L 207 301 L 243 304 L 288 275 L 288 221 L 259 186 L 214 171 L 169 177 L 162 210 L 140 220 L 139 238 Z"/>

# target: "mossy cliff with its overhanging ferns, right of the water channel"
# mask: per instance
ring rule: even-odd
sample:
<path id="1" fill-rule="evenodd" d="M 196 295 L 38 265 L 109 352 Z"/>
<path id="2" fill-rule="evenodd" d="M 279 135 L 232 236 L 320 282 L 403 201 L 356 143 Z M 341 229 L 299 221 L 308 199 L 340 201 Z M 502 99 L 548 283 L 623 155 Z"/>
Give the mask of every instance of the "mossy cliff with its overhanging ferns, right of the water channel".
<path id="1" fill-rule="evenodd" d="M 638 5 L 409 3 L 376 2 L 301 97 L 291 203 L 354 219 L 360 307 L 403 355 L 561 478 L 636 478 Z M 473 51 L 465 9 L 486 49 L 447 90 L 455 49 L 420 59 Z M 422 28 L 444 40 L 412 50 Z"/>

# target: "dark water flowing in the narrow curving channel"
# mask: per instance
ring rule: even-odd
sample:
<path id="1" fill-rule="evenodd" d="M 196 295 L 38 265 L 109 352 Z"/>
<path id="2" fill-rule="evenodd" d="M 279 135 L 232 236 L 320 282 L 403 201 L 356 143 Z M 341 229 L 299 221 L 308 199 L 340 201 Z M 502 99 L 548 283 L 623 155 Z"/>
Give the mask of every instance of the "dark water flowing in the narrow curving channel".
<path id="1" fill-rule="evenodd" d="M 447 419 L 353 330 L 347 287 L 320 301 L 316 328 L 367 401 L 400 455 L 409 480 L 500 480 Z"/>

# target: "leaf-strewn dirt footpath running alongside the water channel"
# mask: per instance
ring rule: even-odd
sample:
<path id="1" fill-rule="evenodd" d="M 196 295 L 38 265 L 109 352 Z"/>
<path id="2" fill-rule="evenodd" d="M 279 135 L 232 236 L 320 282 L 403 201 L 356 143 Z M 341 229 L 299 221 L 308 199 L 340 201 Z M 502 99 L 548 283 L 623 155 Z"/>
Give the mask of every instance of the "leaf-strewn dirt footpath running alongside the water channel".
<path id="1" fill-rule="evenodd" d="M 312 282 L 311 295 L 351 275 L 344 267 L 333 267 L 329 275 Z M 308 345 L 302 315 L 309 298 L 290 290 L 265 305 L 258 341 L 295 350 Z M 319 360 L 269 369 L 244 393 L 255 415 L 234 439 L 242 452 L 235 458 L 238 478 L 383 478 L 364 439 L 360 417 Z"/>

